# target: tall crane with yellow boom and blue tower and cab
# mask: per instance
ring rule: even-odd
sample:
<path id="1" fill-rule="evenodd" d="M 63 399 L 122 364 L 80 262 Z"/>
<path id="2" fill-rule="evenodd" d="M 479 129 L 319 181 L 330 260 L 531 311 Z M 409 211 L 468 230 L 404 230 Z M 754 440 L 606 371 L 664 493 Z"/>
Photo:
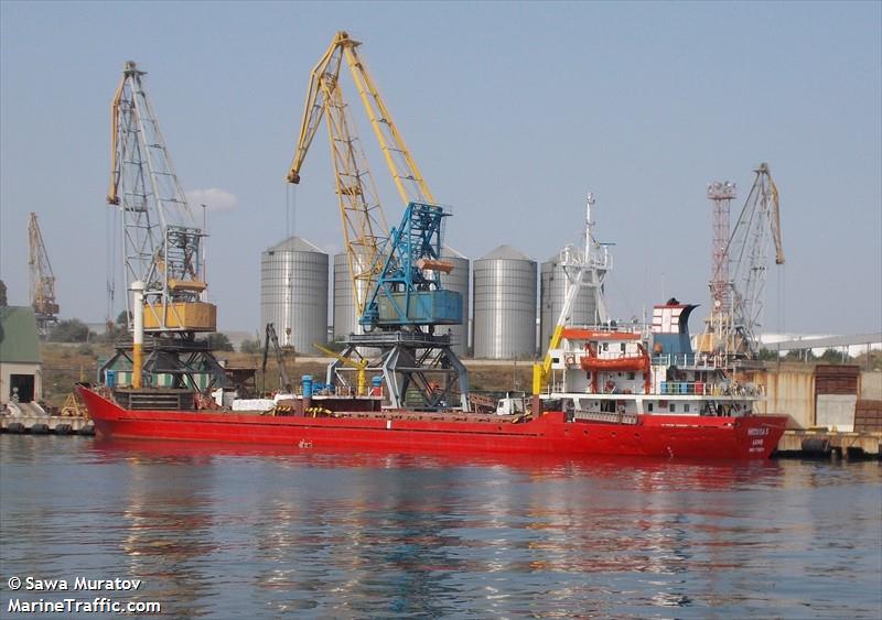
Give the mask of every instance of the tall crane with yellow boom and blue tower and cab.
<path id="1" fill-rule="evenodd" d="M 459 406 L 467 410 L 465 367 L 451 350 L 450 336 L 435 333 L 437 327 L 462 323 L 461 296 L 442 290 L 440 284 L 441 273 L 452 268 L 441 258 L 443 221 L 450 214 L 435 204 L 358 54 L 359 45 L 347 33 L 337 32 L 312 69 L 287 180 L 300 183 L 306 151 L 324 118 L 355 305 L 364 331 L 348 338 L 342 357 L 356 355 L 357 348 L 378 349 L 379 359 L 367 370 L 383 372 L 392 407 L 402 407 L 409 398 L 418 396 L 416 406 L 420 409 L 445 409 L 458 398 L 459 389 Z M 400 224 L 388 232 L 343 96 L 340 78 L 344 61 L 406 205 Z M 344 370 L 358 369 L 359 365 L 333 362 L 327 382 L 343 380 Z"/>

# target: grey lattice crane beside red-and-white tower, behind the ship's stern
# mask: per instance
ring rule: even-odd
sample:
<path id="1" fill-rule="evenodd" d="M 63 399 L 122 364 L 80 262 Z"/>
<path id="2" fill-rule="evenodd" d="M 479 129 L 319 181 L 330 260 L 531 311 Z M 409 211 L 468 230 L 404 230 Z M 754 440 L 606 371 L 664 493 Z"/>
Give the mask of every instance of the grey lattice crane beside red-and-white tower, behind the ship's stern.
<path id="1" fill-rule="evenodd" d="M 784 264 L 778 189 L 768 164 L 754 171 L 754 182 L 725 244 L 722 261 L 728 269 L 728 303 L 714 300 L 708 318 L 702 350 L 722 355 L 727 361 L 753 359 L 759 353 L 757 331 L 763 311 L 763 291 L 770 241 L 775 264 Z M 716 278 L 711 282 L 719 280 Z"/>

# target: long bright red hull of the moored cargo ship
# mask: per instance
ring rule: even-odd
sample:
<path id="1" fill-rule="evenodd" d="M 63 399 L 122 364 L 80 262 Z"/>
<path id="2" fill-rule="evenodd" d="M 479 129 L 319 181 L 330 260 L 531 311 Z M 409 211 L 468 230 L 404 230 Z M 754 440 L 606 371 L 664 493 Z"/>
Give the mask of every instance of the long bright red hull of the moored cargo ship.
<path id="1" fill-rule="evenodd" d="M 214 411 L 125 410 L 77 385 L 100 436 L 252 443 L 300 448 L 369 448 L 460 453 L 768 458 L 785 415 L 743 417 L 643 415 L 636 424 L 567 422 L 562 412 L 512 423 L 386 412 L 342 417 L 266 416 Z"/>

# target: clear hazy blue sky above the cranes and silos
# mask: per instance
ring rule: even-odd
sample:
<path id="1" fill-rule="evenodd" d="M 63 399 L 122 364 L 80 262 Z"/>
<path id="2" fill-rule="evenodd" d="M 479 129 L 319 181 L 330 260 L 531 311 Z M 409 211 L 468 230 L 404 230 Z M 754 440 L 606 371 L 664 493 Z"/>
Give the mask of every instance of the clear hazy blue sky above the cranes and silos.
<path id="1" fill-rule="evenodd" d="M 63 317 L 105 318 L 109 104 L 133 59 L 185 189 L 235 197 L 209 216 L 211 296 L 222 328 L 256 329 L 260 251 L 284 237 L 287 196 L 294 233 L 341 247 L 323 133 L 301 185 L 283 177 L 309 72 L 347 30 L 453 206 L 448 241 L 466 255 L 510 243 L 548 259 L 578 240 L 590 189 L 598 237 L 617 243 L 613 314 L 670 295 L 706 309 L 706 184 L 731 180 L 745 196 L 766 161 L 787 255 L 783 278 L 767 279 L 766 329 L 878 330 L 881 7 L 3 1 L 0 279 L 28 303 L 36 211 Z M 361 128 L 397 221 L 402 205 Z"/>

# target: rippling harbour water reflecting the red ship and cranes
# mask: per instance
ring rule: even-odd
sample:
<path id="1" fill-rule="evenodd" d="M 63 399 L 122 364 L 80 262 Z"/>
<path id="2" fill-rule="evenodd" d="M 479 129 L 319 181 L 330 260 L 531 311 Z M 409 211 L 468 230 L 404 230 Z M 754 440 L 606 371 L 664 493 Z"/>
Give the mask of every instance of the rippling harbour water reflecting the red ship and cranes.
<path id="1" fill-rule="evenodd" d="M 171 616 L 882 611 L 872 463 L 0 442 L 3 575 L 141 578 Z"/>

